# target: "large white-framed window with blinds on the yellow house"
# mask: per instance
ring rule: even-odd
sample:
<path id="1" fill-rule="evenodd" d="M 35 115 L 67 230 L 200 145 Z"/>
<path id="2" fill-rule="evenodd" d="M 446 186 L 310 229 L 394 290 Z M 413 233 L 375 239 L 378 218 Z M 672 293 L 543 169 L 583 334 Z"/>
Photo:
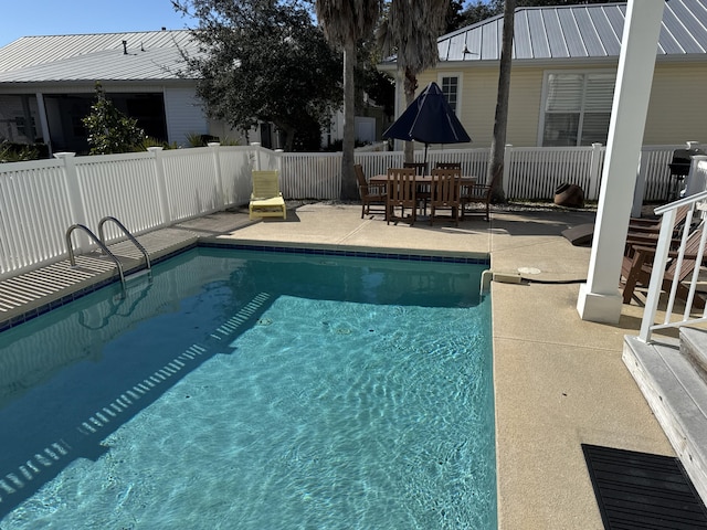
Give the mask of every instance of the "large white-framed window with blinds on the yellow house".
<path id="1" fill-rule="evenodd" d="M 605 144 L 615 83 L 613 73 L 548 74 L 542 146 Z"/>

